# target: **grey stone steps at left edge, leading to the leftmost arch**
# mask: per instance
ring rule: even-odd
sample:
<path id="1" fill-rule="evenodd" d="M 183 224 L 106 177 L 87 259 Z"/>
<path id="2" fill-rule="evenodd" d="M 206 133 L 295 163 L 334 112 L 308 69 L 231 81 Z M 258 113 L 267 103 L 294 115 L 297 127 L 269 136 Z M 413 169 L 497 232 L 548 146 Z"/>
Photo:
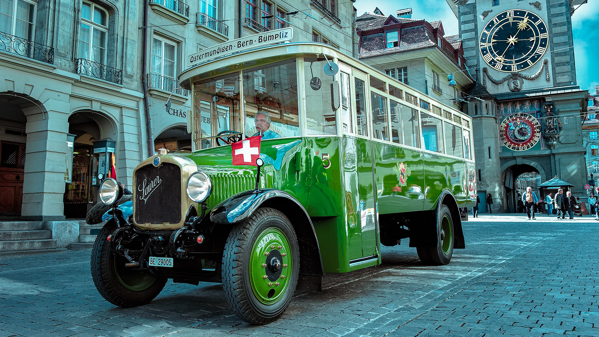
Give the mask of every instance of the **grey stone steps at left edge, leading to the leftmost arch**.
<path id="1" fill-rule="evenodd" d="M 44 230 L 43 221 L 0 221 L 0 256 L 7 253 L 35 253 L 57 248 L 52 231 Z"/>

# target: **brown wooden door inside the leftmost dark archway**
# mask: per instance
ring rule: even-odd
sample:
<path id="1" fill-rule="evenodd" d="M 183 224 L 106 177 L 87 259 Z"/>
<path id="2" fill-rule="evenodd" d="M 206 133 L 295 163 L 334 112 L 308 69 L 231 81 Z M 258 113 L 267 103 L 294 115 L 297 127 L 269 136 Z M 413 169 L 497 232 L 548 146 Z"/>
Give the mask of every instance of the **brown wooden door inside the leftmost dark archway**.
<path id="1" fill-rule="evenodd" d="M 20 213 L 23 201 L 25 144 L 0 143 L 0 213 Z"/>

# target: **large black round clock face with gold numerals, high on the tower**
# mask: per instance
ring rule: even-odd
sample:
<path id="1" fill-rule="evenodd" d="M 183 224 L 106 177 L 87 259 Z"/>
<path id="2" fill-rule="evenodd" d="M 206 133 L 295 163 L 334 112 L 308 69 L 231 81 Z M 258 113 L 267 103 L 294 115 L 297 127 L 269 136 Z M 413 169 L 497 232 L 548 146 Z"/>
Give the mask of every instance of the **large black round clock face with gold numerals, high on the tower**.
<path id="1" fill-rule="evenodd" d="M 495 70 L 521 71 L 541 59 L 547 40 L 547 26 L 537 14 L 504 11 L 489 20 L 480 33 L 480 54 Z"/>

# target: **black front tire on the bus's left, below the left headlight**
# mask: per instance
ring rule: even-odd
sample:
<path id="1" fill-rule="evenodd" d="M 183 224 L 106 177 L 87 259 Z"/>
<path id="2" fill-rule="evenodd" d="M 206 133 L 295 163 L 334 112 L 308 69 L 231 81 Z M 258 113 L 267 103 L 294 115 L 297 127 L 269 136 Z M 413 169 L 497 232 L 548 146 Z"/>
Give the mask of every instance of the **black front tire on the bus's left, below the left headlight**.
<path id="1" fill-rule="evenodd" d="M 131 308 L 150 303 L 167 284 L 167 279 L 152 275 L 147 270 L 125 267 L 128 261 L 110 251 L 110 241 L 107 240 L 116 228 L 113 221 L 108 221 L 93 243 L 93 284 L 102 297 L 114 305 Z"/>

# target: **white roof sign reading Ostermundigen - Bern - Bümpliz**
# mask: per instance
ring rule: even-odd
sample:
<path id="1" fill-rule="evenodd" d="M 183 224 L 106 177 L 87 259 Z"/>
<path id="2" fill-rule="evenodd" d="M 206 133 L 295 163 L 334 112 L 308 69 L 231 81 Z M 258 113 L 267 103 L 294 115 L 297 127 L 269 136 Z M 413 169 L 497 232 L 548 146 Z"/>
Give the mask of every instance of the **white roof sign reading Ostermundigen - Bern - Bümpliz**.
<path id="1" fill-rule="evenodd" d="M 187 56 L 187 68 L 208 62 L 210 60 L 231 55 L 232 53 L 243 52 L 244 50 L 267 46 L 268 44 L 281 43 L 289 41 L 294 35 L 292 27 L 276 29 L 260 34 L 254 34 L 247 37 L 238 38 L 216 46 L 200 50 Z"/>

